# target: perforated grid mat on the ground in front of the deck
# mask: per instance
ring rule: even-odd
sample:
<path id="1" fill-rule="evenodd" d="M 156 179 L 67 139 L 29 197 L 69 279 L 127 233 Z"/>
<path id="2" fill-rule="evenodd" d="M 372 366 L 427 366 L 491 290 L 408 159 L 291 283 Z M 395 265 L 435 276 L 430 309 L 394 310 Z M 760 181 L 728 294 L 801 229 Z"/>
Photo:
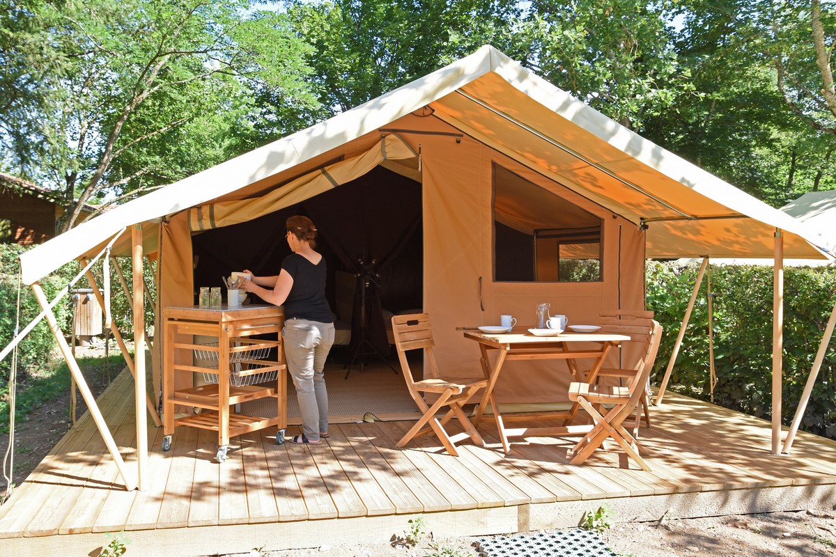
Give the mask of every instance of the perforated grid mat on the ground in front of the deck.
<path id="1" fill-rule="evenodd" d="M 479 557 L 615 557 L 617 554 L 590 530 L 551 534 L 520 534 L 477 539 Z"/>

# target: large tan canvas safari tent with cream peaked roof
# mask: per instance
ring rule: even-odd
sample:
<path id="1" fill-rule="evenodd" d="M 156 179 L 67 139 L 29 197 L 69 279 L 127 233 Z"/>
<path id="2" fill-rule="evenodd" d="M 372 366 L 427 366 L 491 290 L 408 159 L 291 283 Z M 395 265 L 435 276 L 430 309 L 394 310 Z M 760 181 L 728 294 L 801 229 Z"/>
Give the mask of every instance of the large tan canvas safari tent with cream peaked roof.
<path id="1" fill-rule="evenodd" d="M 353 276 L 375 260 L 381 306 L 427 311 L 441 366 L 465 374 L 478 351 L 456 327 L 507 313 L 531 324 L 540 302 L 574 323 L 643 309 L 646 258 L 775 258 L 778 285 L 782 257 L 836 250 L 832 236 L 485 46 L 79 225 L 23 254 L 23 281 L 37 286 L 112 242 L 110 255 L 157 261 L 159 315 L 193 304 L 196 287 L 220 286 L 223 273 L 277 272 L 293 212 L 319 226 L 335 272 Z M 779 374 L 779 347 L 776 358 Z M 523 371 L 509 367 L 497 397 L 538 402 L 560 375 Z"/>

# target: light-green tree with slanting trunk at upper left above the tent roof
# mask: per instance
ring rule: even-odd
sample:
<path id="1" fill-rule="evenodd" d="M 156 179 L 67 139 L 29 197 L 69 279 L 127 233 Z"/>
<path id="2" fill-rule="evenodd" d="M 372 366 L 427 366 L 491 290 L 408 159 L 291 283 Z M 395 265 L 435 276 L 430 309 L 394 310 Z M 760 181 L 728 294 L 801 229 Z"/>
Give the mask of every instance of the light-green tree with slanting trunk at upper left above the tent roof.
<path id="1" fill-rule="evenodd" d="M 2 2 L 2 164 L 59 190 L 62 231 L 84 203 L 193 174 L 319 109 L 308 48 L 249 0 Z M 273 114 L 253 102 L 267 91 Z"/>

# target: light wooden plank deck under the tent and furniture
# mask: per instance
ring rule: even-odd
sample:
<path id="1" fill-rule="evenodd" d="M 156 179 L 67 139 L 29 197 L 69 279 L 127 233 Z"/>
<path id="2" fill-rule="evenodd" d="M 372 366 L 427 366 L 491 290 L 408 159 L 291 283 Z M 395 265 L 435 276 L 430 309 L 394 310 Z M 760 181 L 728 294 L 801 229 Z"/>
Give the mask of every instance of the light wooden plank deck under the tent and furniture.
<path id="1" fill-rule="evenodd" d="M 129 468 L 135 463 L 133 383 L 123 372 L 99 398 Z M 274 443 L 274 431 L 232 439 L 178 428 L 171 452 L 150 430 L 152 487 L 127 492 L 89 416 L 0 507 L 3 554 L 90 554 L 125 530 L 130 554 L 196 555 L 390 539 L 422 514 L 436 537 L 579 523 L 607 500 L 619 520 L 833 509 L 836 443 L 799 433 L 792 455 L 768 453 L 770 425 L 669 393 L 641 439 L 653 471 L 623 453 L 568 464 L 571 443 L 531 438 L 505 455 L 490 420 L 487 447 L 461 457 L 424 437 L 399 450 L 409 422 L 333 425 L 327 443 Z M 293 428 L 291 428 L 292 433 Z M 327 534 L 326 534 L 327 533 Z"/>

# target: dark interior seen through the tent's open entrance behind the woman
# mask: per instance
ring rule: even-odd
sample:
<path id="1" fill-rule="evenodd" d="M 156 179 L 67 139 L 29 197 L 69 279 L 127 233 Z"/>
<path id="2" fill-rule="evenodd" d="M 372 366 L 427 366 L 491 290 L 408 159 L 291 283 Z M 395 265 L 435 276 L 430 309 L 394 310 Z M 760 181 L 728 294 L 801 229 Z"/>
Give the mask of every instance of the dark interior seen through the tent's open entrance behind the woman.
<path id="1" fill-rule="evenodd" d="M 387 355 L 383 310 L 397 313 L 423 306 L 421 184 L 378 166 L 298 205 L 193 235 L 195 290 L 223 286 L 222 276 L 232 271 L 278 275 L 290 254 L 284 223 L 291 215 L 308 216 L 319 231 L 316 249 L 329 269 L 329 304 L 339 320 L 350 324 L 350 349 L 356 351 L 362 334 Z M 249 297 L 252 303 L 263 303 Z M 361 332 L 363 298 L 366 327 Z"/>

